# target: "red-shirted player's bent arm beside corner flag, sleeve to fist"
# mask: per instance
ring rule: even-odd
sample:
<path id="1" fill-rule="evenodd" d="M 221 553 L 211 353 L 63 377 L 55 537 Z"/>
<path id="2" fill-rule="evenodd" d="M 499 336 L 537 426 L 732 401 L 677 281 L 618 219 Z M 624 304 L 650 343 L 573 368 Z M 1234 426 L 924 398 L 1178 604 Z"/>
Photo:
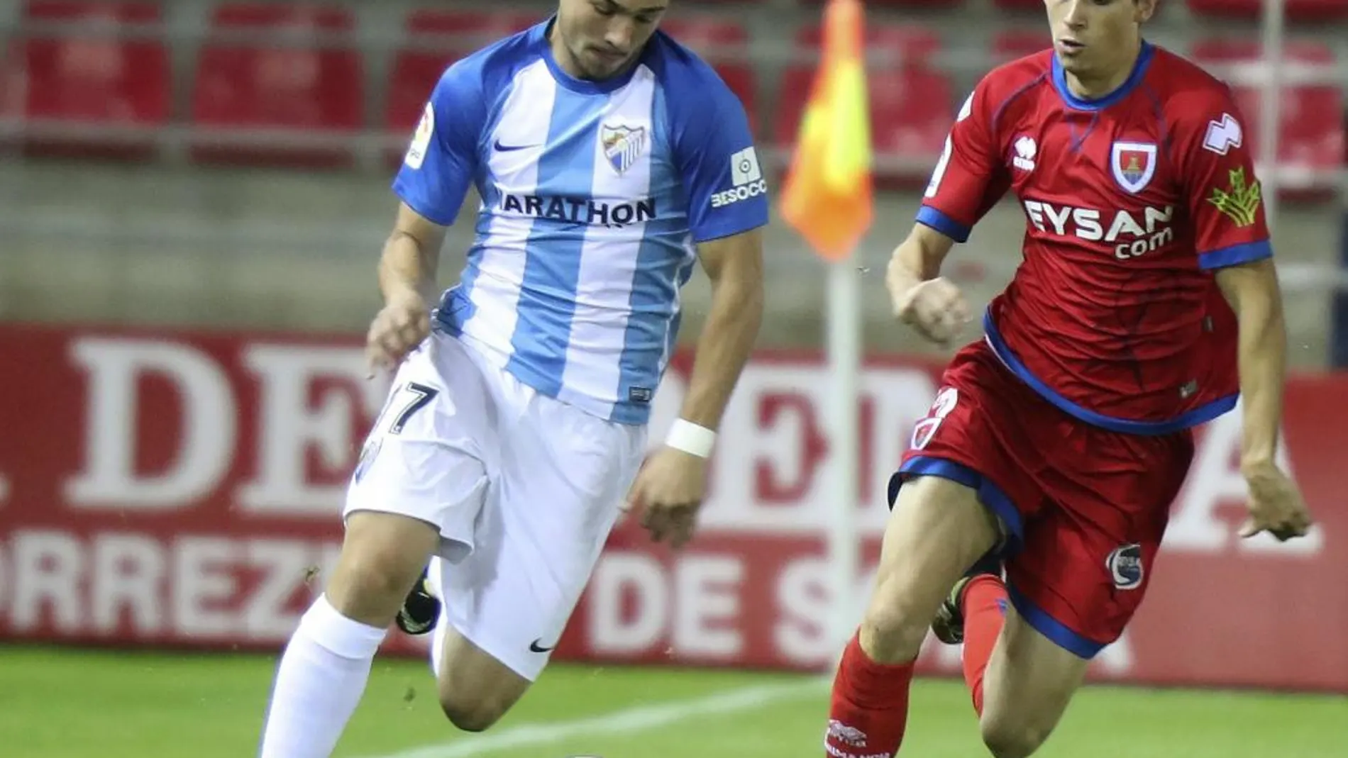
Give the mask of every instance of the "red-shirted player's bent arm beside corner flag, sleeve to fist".
<path id="1" fill-rule="evenodd" d="M 1006 193 L 1008 179 L 996 148 L 988 79 L 964 101 L 931 172 L 917 223 L 890 259 L 886 285 L 894 314 L 931 342 L 945 345 L 972 318 L 969 306 L 941 264 L 956 242 Z"/>

